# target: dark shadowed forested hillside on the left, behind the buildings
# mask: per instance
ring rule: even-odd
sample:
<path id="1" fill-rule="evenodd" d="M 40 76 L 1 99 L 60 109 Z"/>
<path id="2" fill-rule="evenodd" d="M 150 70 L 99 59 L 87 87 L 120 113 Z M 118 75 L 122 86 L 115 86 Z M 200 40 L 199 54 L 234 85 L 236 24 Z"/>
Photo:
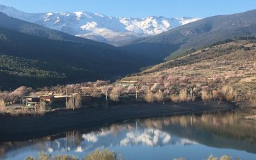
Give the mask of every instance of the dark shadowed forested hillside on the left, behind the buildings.
<path id="1" fill-rule="evenodd" d="M 112 79 L 140 68 L 115 47 L 51 40 L 5 28 L 0 28 L 0 61 L 1 90 Z"/>

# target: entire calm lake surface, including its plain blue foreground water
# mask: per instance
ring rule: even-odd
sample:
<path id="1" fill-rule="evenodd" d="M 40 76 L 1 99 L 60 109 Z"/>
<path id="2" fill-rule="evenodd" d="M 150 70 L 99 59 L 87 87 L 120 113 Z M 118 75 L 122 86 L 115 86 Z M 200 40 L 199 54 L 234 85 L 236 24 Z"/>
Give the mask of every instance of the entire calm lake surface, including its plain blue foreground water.
<path id="1" fill-rule="evenodd" d="M 244 113 L 234 111 L 150 118 L 113 124 L 89 133 L 71 131 L 39 140 L 1 143 L 0 159 L 37 157 L 41 151 L 83 157 L 96 148 L 109 148 L 124 159 L 156 159 L 156 154 L 157 159 L 204 159 L 210 154 L 256 159 L 256 124 L 241 120 L 243 116 Z M 204 153 L 196 154 L 195 150 Z"/>

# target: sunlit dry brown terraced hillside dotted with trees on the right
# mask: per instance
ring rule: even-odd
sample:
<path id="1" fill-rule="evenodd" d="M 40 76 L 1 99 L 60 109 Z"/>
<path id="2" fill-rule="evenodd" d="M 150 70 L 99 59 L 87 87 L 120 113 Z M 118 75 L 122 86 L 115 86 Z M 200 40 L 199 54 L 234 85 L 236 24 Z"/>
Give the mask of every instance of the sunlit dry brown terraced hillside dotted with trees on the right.
<path id="1" fill-rule="evenodd" d="M 151 92 L 179 99 L 226 99 L 256 102 L 256 41 L 234 40 L 166 61 L 122 81 L 138 81 Z M 184 91 L 185 90 L 185 91 Z M 186 97 L 185 97 L 186 99 Z"/>

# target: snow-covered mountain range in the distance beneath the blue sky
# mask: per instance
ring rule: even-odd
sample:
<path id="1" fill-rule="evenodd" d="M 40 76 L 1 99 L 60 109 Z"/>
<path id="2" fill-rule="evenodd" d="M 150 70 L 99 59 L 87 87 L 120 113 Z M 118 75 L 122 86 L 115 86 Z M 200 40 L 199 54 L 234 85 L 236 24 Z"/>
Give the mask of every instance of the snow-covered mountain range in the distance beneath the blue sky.
<path id="1" fill-rule="evenodd" d="M 90 12 L 25 13 L 4 5 L 0 5 L 0 12 L 46 28 L 113 45 L 122 45 L 136 38 L 157 35 L 177 26 L 199 20 L 190 17 L 150 16 L 144 19 L 109 17 Z"/>

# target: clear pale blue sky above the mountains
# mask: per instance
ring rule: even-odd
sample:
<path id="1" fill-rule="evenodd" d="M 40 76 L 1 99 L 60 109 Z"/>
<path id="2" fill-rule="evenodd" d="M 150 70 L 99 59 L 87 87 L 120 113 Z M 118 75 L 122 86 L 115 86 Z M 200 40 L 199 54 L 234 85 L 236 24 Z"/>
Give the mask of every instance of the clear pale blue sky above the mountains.
<path id="1" fill-rule="evenodd" d="M 87 11 L 114 17 L 209 17 L 256 9 L 256 0 L 0 0 L 24 12 Z"/>

